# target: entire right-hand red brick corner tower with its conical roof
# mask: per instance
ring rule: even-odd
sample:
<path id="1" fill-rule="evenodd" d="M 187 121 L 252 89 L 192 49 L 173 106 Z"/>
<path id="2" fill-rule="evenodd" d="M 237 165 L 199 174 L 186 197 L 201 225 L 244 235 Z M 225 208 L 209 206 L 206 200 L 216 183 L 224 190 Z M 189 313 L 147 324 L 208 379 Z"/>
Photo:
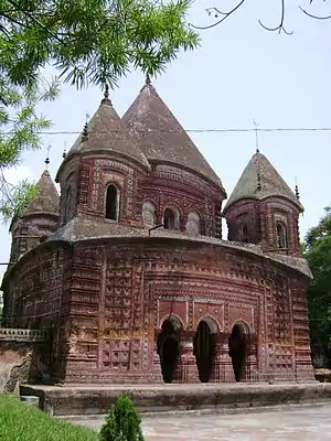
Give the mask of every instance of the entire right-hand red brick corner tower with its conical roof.
<path id="1" fill-rule="evenodd" d="M 301 255 L 299 215 L 303 206 L 296 193 L 257 149 L 223 211 L 228 240 Z"/>

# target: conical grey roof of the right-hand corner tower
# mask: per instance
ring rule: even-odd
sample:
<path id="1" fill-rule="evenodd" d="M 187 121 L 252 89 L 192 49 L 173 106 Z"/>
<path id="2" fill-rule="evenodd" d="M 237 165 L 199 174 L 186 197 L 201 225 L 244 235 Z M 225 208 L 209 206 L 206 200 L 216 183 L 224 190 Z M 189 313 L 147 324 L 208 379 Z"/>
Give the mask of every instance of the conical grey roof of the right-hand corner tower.
<path id="1" fill-rule="evenodd" d="M 246 165 L 224 207 L 224 212 L 236 201 L 244 198 L 261 201 L 270 196 L 285 197 L 296 204 L 298 208 L 303 212 L 303 206 L 300 204 L 298 197 L 287 185 L 274 165 L 264 154 L 257 151 Z"/>

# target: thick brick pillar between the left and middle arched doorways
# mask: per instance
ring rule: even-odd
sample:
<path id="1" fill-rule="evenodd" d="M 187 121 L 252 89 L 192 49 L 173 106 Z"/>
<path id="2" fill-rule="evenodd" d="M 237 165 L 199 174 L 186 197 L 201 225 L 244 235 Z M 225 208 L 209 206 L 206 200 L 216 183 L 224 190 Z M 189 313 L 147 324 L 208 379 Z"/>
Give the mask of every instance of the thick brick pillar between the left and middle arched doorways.
<path id="1" fill-rule="evenodd" d="M 196 359 L 193 354 L 193 337 L 189 333 L 183 334 L 180 341 L 180 354 L 173 383 L 200 383 Z"/>

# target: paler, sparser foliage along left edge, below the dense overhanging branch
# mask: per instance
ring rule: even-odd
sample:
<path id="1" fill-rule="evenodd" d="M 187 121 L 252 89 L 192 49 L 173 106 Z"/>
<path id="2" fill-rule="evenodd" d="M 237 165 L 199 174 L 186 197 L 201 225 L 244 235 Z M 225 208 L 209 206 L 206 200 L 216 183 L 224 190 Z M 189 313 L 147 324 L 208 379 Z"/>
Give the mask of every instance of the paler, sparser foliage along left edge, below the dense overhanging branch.
<path id="1" fill-rule="evenodd" d="M 0 132 L 0 216 L 10 222 L 14 215 L 22 214 L 36 187 L 29 180 L 13 185 L 6 172 L 20 164 L 25 150 L 40 147 L 38 133 L 50 128 L 51 121 L 36 115 L 35 105 L 55 99 L 58 84 L 39 80 L 20 90 L 10 84 L 1 88 L 0 83 L 0 94 L 7 104 L 0 107 L 0 128 L 8 130 Z"/>

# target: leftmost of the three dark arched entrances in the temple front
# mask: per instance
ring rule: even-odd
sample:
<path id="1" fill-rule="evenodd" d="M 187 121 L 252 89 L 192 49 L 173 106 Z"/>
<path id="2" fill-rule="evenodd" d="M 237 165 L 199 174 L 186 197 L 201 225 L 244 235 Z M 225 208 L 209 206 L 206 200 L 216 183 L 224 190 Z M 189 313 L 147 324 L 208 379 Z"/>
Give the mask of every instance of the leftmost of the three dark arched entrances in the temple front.
<path id="1" fill-rule="evenodd" d="M 181 324 L 175 318 L 164 320 L 158 337 L 158 354 L 164 383 L 172 383 L 179 357 Z"/>

